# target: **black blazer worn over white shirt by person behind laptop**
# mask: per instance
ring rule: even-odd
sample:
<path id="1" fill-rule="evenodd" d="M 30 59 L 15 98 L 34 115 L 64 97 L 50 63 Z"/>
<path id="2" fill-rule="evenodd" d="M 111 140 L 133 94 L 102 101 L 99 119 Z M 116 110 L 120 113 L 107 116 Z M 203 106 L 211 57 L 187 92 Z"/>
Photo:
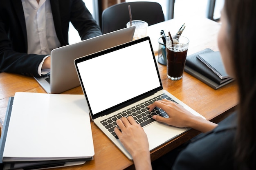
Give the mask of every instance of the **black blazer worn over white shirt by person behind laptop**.
<path id="1" fill-rule="evenodd" d="M 82 40 L 101 35 L 101 29 L 82 0 L 50 0 L 56 35 L 68 44 L 69 22 Z M 27 31 L 21 0 L 0 1 L 0 71 L 39 76 L 46 55 L 27 54 Z"/>

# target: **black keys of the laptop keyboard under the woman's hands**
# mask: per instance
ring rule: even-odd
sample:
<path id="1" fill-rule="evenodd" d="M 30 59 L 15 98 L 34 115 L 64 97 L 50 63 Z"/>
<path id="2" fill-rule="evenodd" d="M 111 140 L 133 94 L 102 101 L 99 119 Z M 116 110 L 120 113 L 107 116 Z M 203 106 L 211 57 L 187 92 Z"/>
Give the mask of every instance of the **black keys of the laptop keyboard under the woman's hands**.
<path id="1" fill-rule="evenodd" d="M 120 119 L 121 117 L 132 116 L 135 119 L 135 121 L 138 124 L 140 124 L 141 127 L 143 127 L 155 121 L 155 119 L 153 119 L 153 115 L 159 115 L 162 117 L 168 116 L 164 112 L 164 110 L 158 107 L 155 107 L 154 110 L 152 110 L 151 112 L 148 111 L 148 106 L 150 104 L 153 104 L 155 101 L 162 100 L 162 99 L 167 99 L 175 102 L 175 100 L 173 100 L 171 97 L 163 93 L 162 95 L 159 95 L 157 97 L 154 97 L 153 99 L 149 99 L 145 102 L 142 102 L 141 104 L 134 106 L 132 108 L 129 108 L 121 113 L 118 113 L 117 115 L 109 117 L 108 119 L 104 119 L 101 121 L 101 124 L 105 126 L 105 128 L 107 128 L 108 131 L 112 135 L 114 135 L 116 139 L 118 139 L 116 133 L 114 132 L 114 128 L 117 126 L 117 122 L 116 122 L 117 119 Z"/>

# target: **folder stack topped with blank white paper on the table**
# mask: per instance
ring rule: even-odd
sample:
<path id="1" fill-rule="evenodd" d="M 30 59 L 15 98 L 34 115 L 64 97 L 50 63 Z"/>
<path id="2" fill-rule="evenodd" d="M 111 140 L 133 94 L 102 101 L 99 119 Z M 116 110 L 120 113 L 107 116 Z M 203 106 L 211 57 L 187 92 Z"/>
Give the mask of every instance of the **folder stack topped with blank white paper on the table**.
<path id="1" fill-rule="evenodd" d="M 4 170 L 83 164 L 93 159 L 83 95 L 16 93 L 9 99 L 0 139 Z"/>

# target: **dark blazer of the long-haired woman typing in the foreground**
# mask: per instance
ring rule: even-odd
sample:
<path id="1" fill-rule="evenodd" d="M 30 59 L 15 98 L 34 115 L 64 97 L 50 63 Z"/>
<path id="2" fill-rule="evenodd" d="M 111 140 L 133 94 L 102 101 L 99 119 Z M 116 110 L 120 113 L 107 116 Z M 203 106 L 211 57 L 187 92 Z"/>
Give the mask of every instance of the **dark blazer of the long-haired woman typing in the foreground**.
<path id="1" fill-rule="evenodd" d="M 236 127 L 237 114 L 233 113 L 212 131 L 191 139 L 173 170 L 233 170 Z"/>

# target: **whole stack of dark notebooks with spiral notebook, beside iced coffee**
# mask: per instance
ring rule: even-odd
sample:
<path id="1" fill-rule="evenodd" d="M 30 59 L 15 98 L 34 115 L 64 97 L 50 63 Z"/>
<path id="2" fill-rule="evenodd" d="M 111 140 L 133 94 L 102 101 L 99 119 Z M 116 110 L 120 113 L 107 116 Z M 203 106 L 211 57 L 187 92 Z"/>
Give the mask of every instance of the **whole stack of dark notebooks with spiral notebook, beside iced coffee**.
<path id="1" fill-rule="evenodd" d="M 234 81 L 225 71 L 220 52 L 211 49 L 204 49 L 187 56 L 184 71 L 214 89 Z"/>

